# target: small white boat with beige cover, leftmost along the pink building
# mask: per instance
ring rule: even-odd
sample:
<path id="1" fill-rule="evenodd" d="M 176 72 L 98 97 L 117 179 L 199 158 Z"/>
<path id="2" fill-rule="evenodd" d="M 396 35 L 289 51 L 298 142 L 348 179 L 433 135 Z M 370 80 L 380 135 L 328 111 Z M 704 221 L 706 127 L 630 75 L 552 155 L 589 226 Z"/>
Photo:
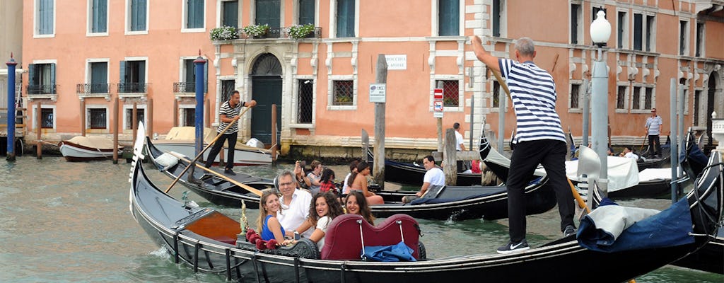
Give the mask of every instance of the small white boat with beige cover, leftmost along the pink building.
<path id="1" fill-rule="evenodd" d="M 58 146 L 67 161 L 104 160 L 113 157 L 113 140 L 108 138 L 79 135 L 70 140 L 62 140 Z M 119 146 L 119 154 L 122 150 L 123 146 Z"/>

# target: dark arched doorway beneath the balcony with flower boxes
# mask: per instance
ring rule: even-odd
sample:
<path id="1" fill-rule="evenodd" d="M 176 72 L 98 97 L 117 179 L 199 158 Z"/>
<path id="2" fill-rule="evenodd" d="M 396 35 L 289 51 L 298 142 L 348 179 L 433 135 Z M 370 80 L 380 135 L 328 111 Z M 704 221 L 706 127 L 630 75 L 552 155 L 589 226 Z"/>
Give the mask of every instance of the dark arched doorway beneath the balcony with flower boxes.
<path id="1" fill-rule="evenodd" d="M 277 104 L 277 143 L 282 128 L 282 64 L 274 54 L 256 58 L 251 69 L 251 136 L 271 145 L 271 104 Z"/>

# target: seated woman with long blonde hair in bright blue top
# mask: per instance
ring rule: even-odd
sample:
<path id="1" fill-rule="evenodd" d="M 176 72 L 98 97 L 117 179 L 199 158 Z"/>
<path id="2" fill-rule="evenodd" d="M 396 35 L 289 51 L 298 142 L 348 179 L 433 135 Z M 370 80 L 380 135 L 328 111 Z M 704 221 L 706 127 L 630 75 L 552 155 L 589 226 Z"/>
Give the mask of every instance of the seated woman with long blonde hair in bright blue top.
<path id="1" fill-rule="evenodd" d="M 271 189 L 263 190 L 259 199 L 259 219 L 256 223 L 258 231 L 261 231 L 261 240 L 274 239 L 279 244 L 284 242 L 284 227 L 277 219 L 279 208 L 281 208 L 279 196 Z"/>

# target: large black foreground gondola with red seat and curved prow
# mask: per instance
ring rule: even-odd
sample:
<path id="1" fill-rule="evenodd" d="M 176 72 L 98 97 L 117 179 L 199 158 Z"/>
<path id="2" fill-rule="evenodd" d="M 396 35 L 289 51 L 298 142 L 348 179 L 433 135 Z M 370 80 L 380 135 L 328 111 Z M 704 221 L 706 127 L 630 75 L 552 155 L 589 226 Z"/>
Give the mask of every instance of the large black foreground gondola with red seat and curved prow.
<path id="1" fill-rule="evenodd" d="M 471 278 L 490 282 L 537 282 L 541 279 L 569 282 L 576 278 L 623 282 L 647 274 L 701 247 L 708 242 L 710 237 L 707 235 L 713 233 L 717 220 L 722 216 L 722 166 L 720 156 L 715 153 L 712 160 L 717 160 L 717 164 L 710 164 L 712 166 L 704 170 L 696 182 L 696 189 L 681 202 L 683 206 L 678 206 L 686 208 L 684 215 L 691 216 L 691 223 L 684 224 L 692 230 L 677 233 L 691 242 L 681 245 L 605 253 L 583 248 L 576 236 L 571 235 L 520 253 L 434 259 L 424 256 L 414 219 L 397 215 L 391 217 L 392 221 L 384 221 L 384 227 L 370 228 L 358 216 L 345 215 L 332 221 L 327 232 L 330 238 L 326 238 L 325 246 L 319 253 L 316 253 L 313 242 L 308 240 L 301 240 L 291 248 L 257 249 L 246 242 L 240 224 L 234 219 L 214 209 L 185 206 L 153 185 L 140 165 L 142 143 L 143 138 L 137 138 L 130 175 L 130 211 L 135 221 L 156 245 L 169 252 L 173 261 L 183 263 L 193 271 L 220 274 L 227 280 L 240 282 L 424 283 L 462 282 Z M 661 221 L 660 226 L 671 224 L 668 219 L 659 218 L 652 221 L 644 219 L 635 225 L 657 220 Z M 395 234 L 391 230 L 399 230 L 399 237 L 392 237 Z M 387 231 L 385 235 L 389 237 L 375 237 L 374 231 Z M 578 233 L 583 232 L 579 230 Z M 359 244 L 361 240 L 377 245 L 384 239 L 389 242 L 390 238 L 413 250 L 417 261 L 355 260 L 364 245 Z M 348 254 L 341 255 L 342 251 Z M 633 259 L 636 264 L 631 264 Z M 561 270 L 562 266 L 579 266 L 581 263 L 595 266 L 601 272 L 577 268 Z"/>

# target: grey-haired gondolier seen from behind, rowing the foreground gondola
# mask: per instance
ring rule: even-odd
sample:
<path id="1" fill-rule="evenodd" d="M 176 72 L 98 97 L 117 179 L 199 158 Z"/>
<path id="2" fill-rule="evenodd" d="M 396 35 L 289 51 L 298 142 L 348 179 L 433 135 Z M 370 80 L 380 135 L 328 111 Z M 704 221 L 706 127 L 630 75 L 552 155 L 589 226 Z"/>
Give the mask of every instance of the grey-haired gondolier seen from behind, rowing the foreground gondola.
<path id="1" fill-rule="evenodd" d="M 515 253 L 529 249 L 526 242 L 525 188 L 538 164 L 545 168 L 549 184 L 555 190 L 564 236 L 576 232 L 573 225 L 573 194 L 565 177 L 565 135 L 555 112 L 555 83 L 546 70 L 533 63 L 535 46 L 530 38 L 515 41 L 515 59 L 498 59 L 483 48 L 479 37 L 471 40 L 476 57 L 505 77 L 515 106 L 518 130 L 515 151 L 510 157 L 508 174 L 508 219 L 510 242 L 497 253 Z M 502 82 L 500 82 L 502 83 Z"/>

